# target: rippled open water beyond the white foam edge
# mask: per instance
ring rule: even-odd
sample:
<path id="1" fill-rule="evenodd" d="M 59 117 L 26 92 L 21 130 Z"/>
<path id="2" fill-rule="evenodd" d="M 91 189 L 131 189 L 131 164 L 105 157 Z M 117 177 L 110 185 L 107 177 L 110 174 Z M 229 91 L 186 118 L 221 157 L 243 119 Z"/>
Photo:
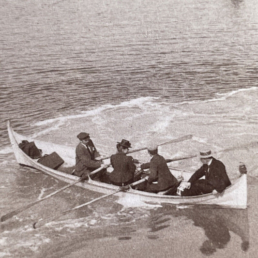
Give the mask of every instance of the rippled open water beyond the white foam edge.
<path id="1" fill-rule="evenodd" d="M 0 122 L 19 130 L 141 96 L 257 86 L 256 0 L 0 2 Z"/>

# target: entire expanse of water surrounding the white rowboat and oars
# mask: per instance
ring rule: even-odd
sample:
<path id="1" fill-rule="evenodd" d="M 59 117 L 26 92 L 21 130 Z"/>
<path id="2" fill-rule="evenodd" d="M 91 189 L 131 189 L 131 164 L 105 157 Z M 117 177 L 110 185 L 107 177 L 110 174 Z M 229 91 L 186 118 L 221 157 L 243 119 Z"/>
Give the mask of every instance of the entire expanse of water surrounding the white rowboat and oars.
<path id="1" fill-rule="evenodd" d="M 77 186 L 0 223 L 0 258 L 256 258 L 257 0 L 0 0 L 0 215 L 65 183 L 15 160 L 15 132 L 65 147 L 87 132 L 103 155 L 128 139 L 168 159 L 211 149 L 248 208 L 181 209 Z M 58 150 L 57 150 L 58 152 Z M 147 151 L 133 153 L 149 162 Z M 195 172 L 198 157 L 169 163 Z"/>

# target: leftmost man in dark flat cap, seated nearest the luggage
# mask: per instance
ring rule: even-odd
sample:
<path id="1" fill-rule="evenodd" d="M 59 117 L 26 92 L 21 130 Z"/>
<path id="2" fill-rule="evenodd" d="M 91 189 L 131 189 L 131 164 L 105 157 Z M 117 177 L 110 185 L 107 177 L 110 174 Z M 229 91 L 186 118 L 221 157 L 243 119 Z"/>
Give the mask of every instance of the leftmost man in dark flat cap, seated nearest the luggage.
<path id="1" fill-rule="evenodd" d="M 99 153 L 96 151 L 90 135 L 82 132 L 77 135 L 77 138 L 80 142 L 76 147 L 76 166 L 73 174 L 78 177 L 83 177 L 99 167 L 104 168 L 105 165 L 96 160 Z M 102 171 L 102 173 L 104 173 L 104 171 Z M 102 173 L 96 173 L 91 178 L 98 179 L 101 177 Z"/>

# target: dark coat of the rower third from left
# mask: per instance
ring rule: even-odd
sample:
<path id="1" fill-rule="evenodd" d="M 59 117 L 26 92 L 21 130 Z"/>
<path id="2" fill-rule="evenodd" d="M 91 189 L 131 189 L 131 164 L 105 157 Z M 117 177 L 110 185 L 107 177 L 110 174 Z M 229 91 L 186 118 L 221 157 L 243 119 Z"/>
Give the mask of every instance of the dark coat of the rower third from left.
<path id="1" fill-rule="evenodd" d="M 167 162 L 164 157 L 159 154 L 155 154 L 152 157 L 150 172 L 146 189 L 147 191 L 159 192 L 167 190 L 178 182 L 167 167 Z"/>

